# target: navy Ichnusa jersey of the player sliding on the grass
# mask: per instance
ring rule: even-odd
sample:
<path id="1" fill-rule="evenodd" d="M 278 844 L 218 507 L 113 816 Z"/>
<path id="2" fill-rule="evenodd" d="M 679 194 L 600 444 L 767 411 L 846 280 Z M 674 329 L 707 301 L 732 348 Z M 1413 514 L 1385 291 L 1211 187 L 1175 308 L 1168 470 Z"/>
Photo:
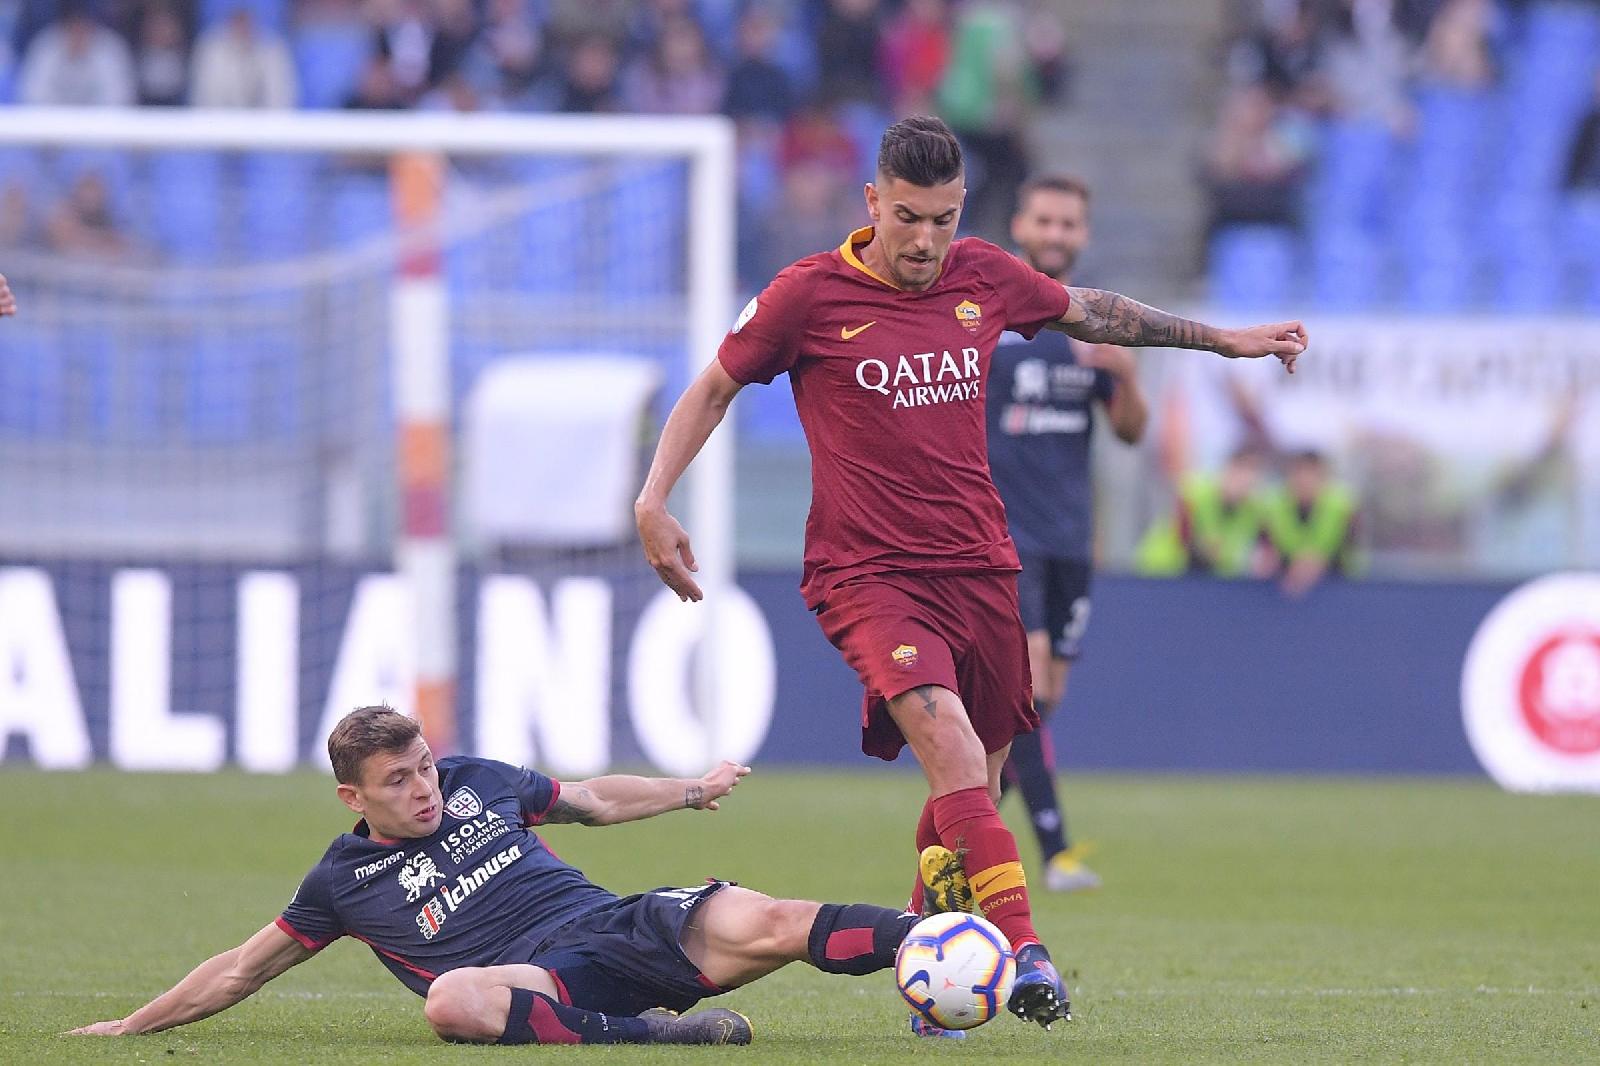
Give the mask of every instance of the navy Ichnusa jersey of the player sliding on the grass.
<path id="1" fill-rule="evenodd" d="M 366 821 L 339 836 L 277 924 L 310 951 L 360 940 L 419 996 L 456 967 L 494 964 L 542 943 L 614 893 L 558 860 L 530 826 L 557 781 L 491 759 L 438 760 L 443 816 L 418 840 L 374 840 Z"/>

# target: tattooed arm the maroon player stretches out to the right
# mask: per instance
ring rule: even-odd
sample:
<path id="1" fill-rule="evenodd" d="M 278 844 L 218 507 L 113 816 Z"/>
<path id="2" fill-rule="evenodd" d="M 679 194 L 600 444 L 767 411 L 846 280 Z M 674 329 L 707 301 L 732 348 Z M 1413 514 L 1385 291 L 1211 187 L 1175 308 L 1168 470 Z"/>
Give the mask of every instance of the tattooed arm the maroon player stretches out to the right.
<path id="1" fill-rule="evenodd" d="M 1294 360 L 1306 351 L 1307 333 L 1299 322 L 1274 322 L 1243 330 L 1222 330 L 1203 322 L 1141 304 L 1102 288 L 1067 288 L 1067 314 L 1045 323 L 1070 338 L 1125 347 L 1194 347 L 1227 359 L 1277 355 L 1294 373 Z"/>

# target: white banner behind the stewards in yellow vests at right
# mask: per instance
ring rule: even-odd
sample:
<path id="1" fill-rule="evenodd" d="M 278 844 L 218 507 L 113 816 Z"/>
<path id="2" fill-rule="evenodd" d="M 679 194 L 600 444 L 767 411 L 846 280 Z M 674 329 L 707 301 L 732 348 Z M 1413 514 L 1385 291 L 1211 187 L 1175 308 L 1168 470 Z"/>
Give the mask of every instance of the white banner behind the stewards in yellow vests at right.
<path id="1" fill-rule="evenodd" d="M 1600 319 L 1318 319 L 1294 375 L 1162 354 L 1170 472 L 1326 453 L 1378 573 L 1600 567 Z M 1154 362 L 1154 360 L 1152 360 Z"/>

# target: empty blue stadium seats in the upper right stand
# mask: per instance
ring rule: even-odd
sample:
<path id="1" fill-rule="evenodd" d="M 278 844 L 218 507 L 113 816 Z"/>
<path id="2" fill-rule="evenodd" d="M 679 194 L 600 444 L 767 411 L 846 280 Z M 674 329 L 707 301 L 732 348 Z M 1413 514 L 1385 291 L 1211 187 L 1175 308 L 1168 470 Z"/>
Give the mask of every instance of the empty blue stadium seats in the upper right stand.
<path id="1" fill-rule="evenodd" d="M 1520 311 L 1597 306 L 1592 222 L 1560 187 L 1600 70 L 1600 5 L 1534 2 L 1510 18 L 1488 91 L 1424 83 L 1410 142 L 1371 123 L 1328 122 L 1294 256 L 1314 304 L 1462 312 L 1493 298 Z M 1210 291 L 1261 298 L 1248 277 L 1272 237 L 1224 230 Z M 1394 282 L 1392 285 L 1389 282 Z M 1299 295 L 1299 293 L 1296 293 Z"/>

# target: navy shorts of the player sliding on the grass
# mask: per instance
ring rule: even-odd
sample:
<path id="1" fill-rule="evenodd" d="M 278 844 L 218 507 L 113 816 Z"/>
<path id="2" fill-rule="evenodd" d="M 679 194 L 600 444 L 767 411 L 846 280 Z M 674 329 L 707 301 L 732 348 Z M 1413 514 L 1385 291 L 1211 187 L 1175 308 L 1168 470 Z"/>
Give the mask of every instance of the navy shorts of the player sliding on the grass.
<path id="1" fill-rule="evenodd" d="M 731 885 L 656 888 L 590 911 L 538 946 L 512 946 L 496 965 L 526 962 L 550 972 L 562 1002 L 630 1016 L 651 1007 L 688 1010 L 725 989 L 712 984 L 683 954 L 690 916 Z"/>

